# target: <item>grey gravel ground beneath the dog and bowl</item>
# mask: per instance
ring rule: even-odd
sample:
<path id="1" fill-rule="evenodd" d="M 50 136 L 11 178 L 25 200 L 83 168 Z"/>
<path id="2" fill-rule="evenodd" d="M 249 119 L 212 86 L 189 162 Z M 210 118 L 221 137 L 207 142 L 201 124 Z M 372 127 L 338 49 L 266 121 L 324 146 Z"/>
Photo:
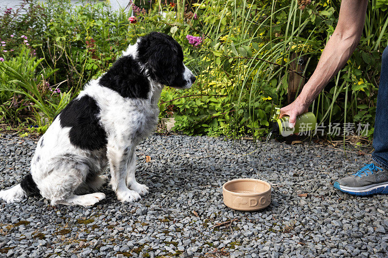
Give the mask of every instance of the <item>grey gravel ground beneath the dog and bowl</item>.
<path id="1" fill-rule="evenodd" d="M 28 173 L 36 142 L 11 135 L 0 138 L 1 189 Z M 222 138 L 152 136 L 137 152 L 138 181 L 150 187 L 146 197 L 121 203 L 107 185 L 107 198 L 94 207 L 52 207 L 48 200 L 32 197 L 0 203 L 0 255 L 387 256 L 387 197 L 353 197 L 331 184 L 369 155 L 348 152 L 347 160 L 329 146 L 271 140 L 264 172 L 259 173 L 273 185 L 271 205 L 259 212 L 227 208 L 221 185 L 254 177 L 263 146 L 259 143 L 256 149 L 251 141 Z"/>

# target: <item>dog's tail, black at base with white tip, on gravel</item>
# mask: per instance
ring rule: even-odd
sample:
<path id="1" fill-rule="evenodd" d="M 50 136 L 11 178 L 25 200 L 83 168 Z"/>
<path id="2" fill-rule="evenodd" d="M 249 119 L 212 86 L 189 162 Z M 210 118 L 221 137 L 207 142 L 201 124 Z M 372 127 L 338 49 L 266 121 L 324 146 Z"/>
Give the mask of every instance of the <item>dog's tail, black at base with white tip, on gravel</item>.
<path id="1" fill-rule="evenodd" d="M 7 203 L 19 202 L 30 195 L 40 195 L 40 191 L 32 180 L 31 174 L 25 176 L 19 184 L 10 189 L 0 191 L 0 199 L 5 200 Z"/>

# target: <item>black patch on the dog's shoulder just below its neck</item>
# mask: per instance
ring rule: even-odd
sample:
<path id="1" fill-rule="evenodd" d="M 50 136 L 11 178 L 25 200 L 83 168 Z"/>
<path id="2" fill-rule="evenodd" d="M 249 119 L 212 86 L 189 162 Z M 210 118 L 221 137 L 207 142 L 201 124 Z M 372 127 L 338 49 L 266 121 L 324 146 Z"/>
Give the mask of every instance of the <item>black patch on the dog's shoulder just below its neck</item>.
<path id="1" fill-rule="evenodd" d="M 124 98 L 148 97 L 149 83 L 141 74 L 139 64 L 131 56 L 124 56 L 113 63 L 100 80 L 101 86 L 117 91 Z"/>

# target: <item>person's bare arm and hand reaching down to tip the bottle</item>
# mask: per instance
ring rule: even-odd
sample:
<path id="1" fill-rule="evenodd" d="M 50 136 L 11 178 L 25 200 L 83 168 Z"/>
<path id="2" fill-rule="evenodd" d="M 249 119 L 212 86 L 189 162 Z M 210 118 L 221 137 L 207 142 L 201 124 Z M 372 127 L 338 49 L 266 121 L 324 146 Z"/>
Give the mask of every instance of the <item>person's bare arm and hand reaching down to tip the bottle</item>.
<path id="1" fill-rule="evenodd" d="M 291 128 L 296 117 L 307 112 L 308 106 L 352 56 L 364 28 L 367 5 L 368 0 L 342 0 L 337 27 L 314 73 L 295 101 L 280 109 L 280 117 L 290 116 Z"/>

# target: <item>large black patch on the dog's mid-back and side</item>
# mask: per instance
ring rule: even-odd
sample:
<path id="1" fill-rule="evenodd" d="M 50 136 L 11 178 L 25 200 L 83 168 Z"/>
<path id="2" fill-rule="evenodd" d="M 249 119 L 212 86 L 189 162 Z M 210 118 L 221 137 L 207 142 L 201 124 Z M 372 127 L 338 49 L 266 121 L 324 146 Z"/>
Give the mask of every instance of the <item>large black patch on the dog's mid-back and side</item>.
<path id="1" fill-rule="evenodd" d="M 61 112 L 62 127 L 71 127 L 71 144 L 83 150 L 98 150 L 108 143 L 105 130 L 99 124 L 97 115 L 100 109 L 96 101 L 85 95 L 72 100 Z"/>

